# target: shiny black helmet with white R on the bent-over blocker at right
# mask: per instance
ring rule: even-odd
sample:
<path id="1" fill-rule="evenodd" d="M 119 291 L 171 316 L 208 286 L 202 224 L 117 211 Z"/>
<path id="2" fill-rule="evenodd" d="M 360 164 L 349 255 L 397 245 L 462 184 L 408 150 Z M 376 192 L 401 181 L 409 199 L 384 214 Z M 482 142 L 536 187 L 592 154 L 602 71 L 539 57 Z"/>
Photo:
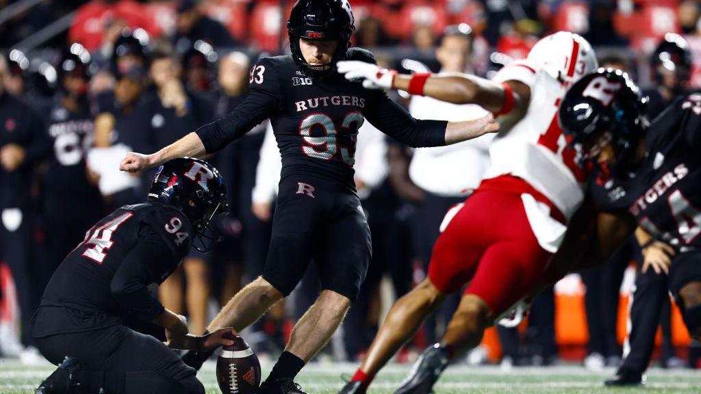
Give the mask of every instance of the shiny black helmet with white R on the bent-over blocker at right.
<path id="1" fill-rule="evenodd" d="M 608 170 L 624 174 L 634 165 L 634 151 L 644 137 L 649 122 L 647 97 L 618 69 L 599 69 L 577 81 L 566 93 L 559 108 L 559 124 L 569 144 L 583 164 L 595 165 L 587 145 L 610 140 L 615 165 Z"/>

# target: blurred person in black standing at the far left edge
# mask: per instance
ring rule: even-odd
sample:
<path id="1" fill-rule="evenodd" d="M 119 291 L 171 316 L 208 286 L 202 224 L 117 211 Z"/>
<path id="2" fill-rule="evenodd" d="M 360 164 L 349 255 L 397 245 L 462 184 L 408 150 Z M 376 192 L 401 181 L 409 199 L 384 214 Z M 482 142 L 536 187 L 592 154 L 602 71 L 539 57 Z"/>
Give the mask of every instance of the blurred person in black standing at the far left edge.
<path id="1" fill-rule="evenodd" d="M 10 268 L 20 304 L 22 361 L 38 360 L 31 317 L 39 305 L 41 266 L 34 247 L 34 204 L 30 189 L 35 165 L 50 151 L 41 117 L 4 88 L 8 64 L 0 56 L 0 261 Z M 56 229 L 62 229 L 57 227 Z M 1 289 L 0 289 L 1 290 Z"/>

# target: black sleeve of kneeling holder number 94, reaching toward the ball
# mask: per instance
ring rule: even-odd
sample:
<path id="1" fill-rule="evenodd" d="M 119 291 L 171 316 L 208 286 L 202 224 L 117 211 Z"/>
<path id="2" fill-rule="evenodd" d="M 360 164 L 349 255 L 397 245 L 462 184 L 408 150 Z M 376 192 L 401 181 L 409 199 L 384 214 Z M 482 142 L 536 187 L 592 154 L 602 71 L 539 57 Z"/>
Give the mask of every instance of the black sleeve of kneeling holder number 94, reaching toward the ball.
<path id="1" fill-rule="evenodd" d="M 163 239 L 151 231 L 127 254 L 114 274 L 112 297 L 137 318 L 154 320 L 163 313 L 163 305 L 151 297 L 147 287 L 163 282 L 177 267 L 176 259 Z"/>

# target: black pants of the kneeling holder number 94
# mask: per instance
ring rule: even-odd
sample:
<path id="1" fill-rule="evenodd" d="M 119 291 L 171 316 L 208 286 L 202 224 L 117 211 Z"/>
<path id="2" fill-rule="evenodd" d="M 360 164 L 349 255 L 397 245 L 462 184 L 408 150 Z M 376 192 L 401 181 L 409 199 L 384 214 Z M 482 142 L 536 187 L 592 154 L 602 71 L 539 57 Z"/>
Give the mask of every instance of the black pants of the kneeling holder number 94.
<path id="1" fill-rule="evenodd" d="M 37 313 L 36 325 L 50 325 Z M 80 362 L 76 374 L 81 385 L 97 393 L 203 394 L 195 369 L 158 339 L 124 325 L 97 330 L 53 334 L 36 339 L 41 354 L 58 364 L 64 357 Z"/>

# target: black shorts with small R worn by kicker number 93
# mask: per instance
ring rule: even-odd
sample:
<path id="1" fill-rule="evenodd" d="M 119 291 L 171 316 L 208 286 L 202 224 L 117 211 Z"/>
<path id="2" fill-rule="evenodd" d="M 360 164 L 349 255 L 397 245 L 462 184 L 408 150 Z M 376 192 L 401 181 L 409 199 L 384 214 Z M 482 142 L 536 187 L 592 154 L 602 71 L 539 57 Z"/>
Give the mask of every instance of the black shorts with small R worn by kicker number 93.
<path id="1" fill-rule="evenodd" d="M 355 301 L 372 255 L 360 198 L 341 184 L 290 175 L 280 181 L 263 278 L 287 297 L 314 259 L 323 290 Z"/>

